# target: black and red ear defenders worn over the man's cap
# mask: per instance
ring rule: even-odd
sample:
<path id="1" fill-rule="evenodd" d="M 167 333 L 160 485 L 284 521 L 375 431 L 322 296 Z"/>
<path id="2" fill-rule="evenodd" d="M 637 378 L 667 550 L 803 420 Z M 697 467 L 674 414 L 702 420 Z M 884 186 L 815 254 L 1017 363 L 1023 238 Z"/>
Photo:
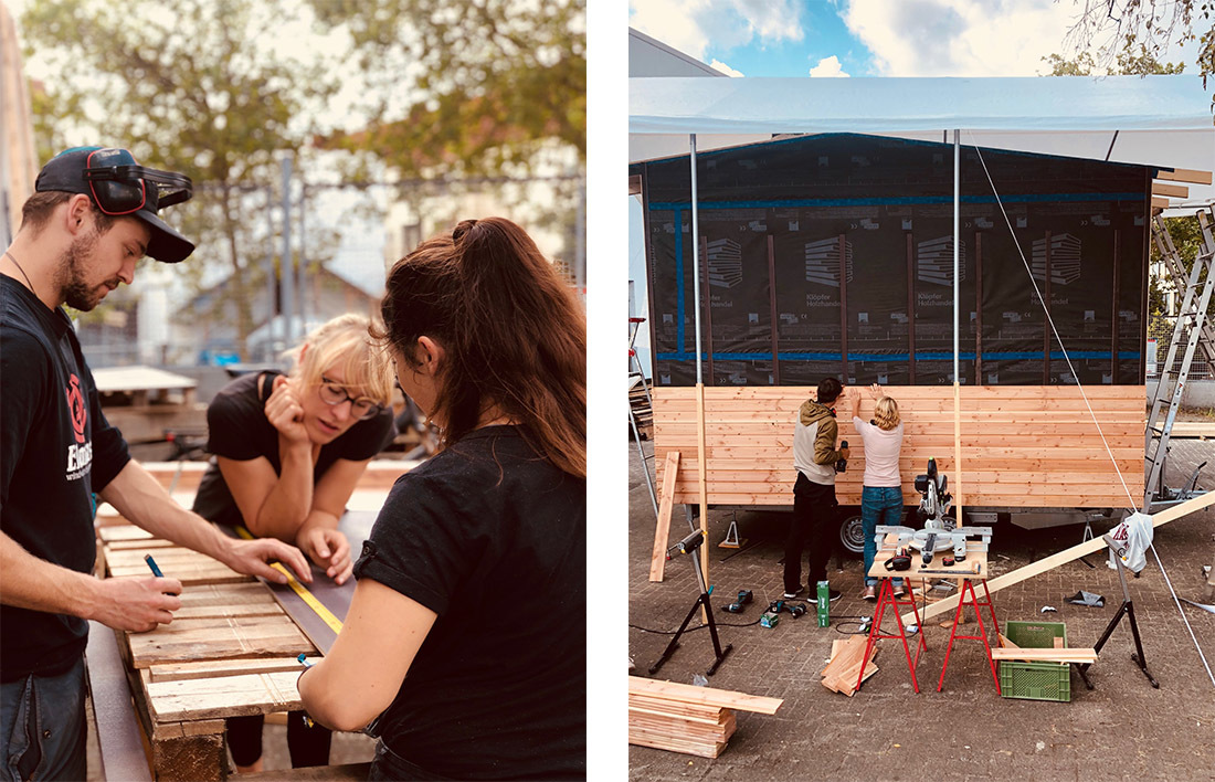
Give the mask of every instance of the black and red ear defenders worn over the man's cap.
<path id="1" fill-rule="evenodd" d="M 162 206 L 190 200 L 193 194 L 188 176 L 145 169 L 126 149 L 90 152 L 84 178 L 97 208 L 112 216 L 141 209 L 156 214 Z"/>

